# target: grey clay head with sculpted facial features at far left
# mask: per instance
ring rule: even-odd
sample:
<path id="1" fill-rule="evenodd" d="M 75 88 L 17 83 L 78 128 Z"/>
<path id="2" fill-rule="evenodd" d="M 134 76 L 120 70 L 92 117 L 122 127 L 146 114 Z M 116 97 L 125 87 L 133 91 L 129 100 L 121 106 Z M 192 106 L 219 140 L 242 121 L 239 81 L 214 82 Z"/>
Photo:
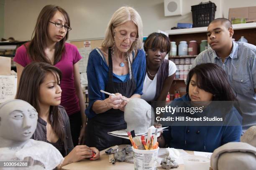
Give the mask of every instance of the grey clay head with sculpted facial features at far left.
<path id="1" fill-rule="evenodd" d="M 17 142 L 31 138 L 38 113 L 28 102 L 9 100 L 0 105 L 0 137 Z"/>

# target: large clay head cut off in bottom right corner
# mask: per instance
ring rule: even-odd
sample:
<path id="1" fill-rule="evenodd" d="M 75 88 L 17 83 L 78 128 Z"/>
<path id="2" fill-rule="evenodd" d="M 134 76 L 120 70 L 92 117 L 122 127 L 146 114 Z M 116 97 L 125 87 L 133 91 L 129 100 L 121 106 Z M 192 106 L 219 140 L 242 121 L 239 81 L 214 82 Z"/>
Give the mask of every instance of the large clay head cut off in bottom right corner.
<path id="1" fill-rule="evenodd" d="M 230 142 L 215 149 L 212 170 L 255 170 L 256 148 L 248 143 Z"/>

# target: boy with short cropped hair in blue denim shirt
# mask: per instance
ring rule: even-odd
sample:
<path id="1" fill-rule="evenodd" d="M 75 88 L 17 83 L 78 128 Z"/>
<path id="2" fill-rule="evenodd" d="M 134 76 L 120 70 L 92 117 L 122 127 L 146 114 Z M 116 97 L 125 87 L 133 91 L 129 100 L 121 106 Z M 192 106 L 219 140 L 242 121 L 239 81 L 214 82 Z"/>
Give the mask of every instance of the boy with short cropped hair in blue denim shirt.
<path id="1" fill-rule="evenodd" d="M 246 130 L 256 125 L 256 46 L 232 41 L 233 34 L 229 20 L 213 20 L 207 28 L 210 47 L 195 58 L 192 67 L 212 62 L 223 68 L 240 102 Z"/>

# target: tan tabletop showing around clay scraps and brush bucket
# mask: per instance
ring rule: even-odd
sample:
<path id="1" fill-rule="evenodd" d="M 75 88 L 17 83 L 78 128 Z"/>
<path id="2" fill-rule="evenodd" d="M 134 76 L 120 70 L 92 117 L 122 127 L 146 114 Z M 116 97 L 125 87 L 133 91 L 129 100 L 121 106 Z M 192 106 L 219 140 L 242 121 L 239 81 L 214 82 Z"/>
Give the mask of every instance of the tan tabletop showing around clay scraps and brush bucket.
<path id="1" fill-rule="evenodd" d="M 119 146 L 122 148 L 122 145 Z M 160 148 L 159 150 L 164 150 Z M 107 149 L 106 149 L 107 150 Z M 193 151 L 186 151 L 187 153 L 194 155 Z M 161 155 L 164 158 L 164 155 Z M 100 151 L 99 160 L 82 160 L 77 163 L 71 163 L 62 167 L 63 170 L 133 170 L 134 165 L 126 162 L 118 162 L 115 164 L 109 163 L 109 156 L 105 153 L 105 150 Z M 164 170 L 159 163 L 157 163 L 158 170 Z M 184 170 L 184 164 L 180 164 L 178 168 L 173 170 Z"/>

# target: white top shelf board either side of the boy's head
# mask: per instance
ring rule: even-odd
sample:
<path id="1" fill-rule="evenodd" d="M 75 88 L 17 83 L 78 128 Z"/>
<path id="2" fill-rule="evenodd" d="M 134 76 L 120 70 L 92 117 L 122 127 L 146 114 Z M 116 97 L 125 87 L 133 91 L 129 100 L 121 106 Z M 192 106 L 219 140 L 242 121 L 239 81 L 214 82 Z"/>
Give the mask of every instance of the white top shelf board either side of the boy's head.
<path id="1" fill-rule="evenodd" d="M 248 29 L 248 28 L 256 28 L 256 23 L 233 24 L 232 26 L 234 30 L 242 30 L 242 29 Z M 191 34 L 191 33 L 207 32 L 207 27 L 166 30 L 165 32 L 168 33 L 169 35 Z"/>

